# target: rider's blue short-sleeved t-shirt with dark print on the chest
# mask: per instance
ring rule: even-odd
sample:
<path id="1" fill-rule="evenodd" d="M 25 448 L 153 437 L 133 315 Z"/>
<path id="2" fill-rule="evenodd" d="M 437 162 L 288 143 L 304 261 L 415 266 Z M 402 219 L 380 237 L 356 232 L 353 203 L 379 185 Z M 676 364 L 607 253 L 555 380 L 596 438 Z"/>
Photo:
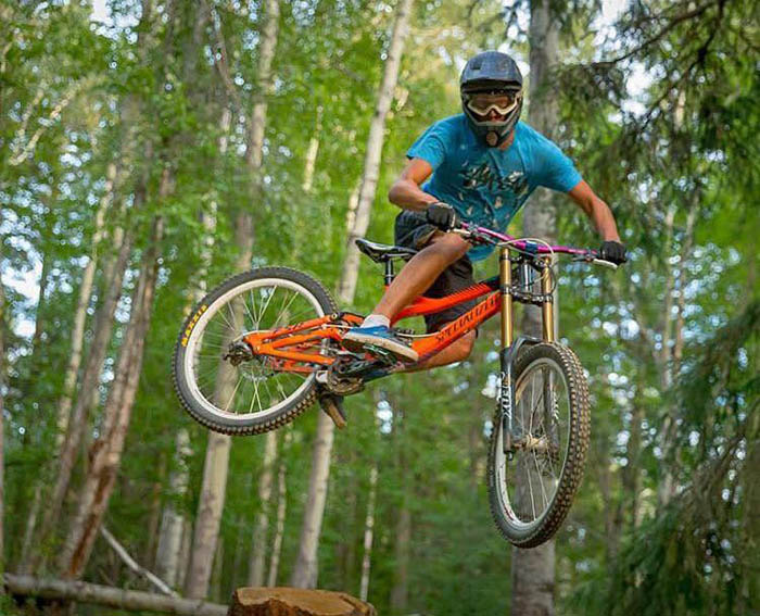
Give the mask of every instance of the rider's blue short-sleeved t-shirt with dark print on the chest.
<path id="1" fill-rule="evenodd" d="M 549 139 L 518 122 L 506 150 L 486 147 L 464 114 L 433 124 L 406 155 L 422 159 L 433 174 L 422 190 L 452 205 L 468 223 L 504 230 L 537 186 L 568 192 L 581 181 L 570 159 Z M 493 249 L 478 246 L 472 261 Z"/>

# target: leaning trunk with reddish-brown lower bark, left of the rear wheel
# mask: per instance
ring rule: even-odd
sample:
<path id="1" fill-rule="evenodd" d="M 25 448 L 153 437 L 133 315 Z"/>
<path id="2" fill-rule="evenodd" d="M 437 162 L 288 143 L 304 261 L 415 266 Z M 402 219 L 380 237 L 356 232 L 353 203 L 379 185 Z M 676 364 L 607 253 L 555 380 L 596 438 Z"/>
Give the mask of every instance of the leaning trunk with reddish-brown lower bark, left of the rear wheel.
<path id="1" fill-rule="evenodd" d="M 170 193 L 172 181 L 172 173 L 165 168 L 159 189 L 161 198 Z M 114 381 L 103 410 L 102 437 L 90 448 L 91 463 L 79 493 L 78 512 L 58 561 L 59 569 L 67 579 L 77 579 L 84 573 L 121 465 L 151 320 L 163 227 L 163 218 L 156 217 L 151 243 L 143 254 Z"/>

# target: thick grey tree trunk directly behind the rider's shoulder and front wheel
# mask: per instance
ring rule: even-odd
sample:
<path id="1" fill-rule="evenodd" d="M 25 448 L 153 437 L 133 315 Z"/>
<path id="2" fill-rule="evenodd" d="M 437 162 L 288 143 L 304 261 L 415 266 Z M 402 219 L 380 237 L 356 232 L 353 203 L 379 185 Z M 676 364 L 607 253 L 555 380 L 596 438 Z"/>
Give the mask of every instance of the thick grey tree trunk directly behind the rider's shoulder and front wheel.
<path id="1" fill-rule="evenodd" d="M 530 122 L 539 131 L 553 137 L 557 125 L 558 103 L 550 89 L 549 72 L 558 58 L 558 28 L 550 15 L 548 0 L 531 1 L 530 22 Z M 525 209 L 523 232 L 528 237 L 556 240 L 557 213 L 550 193 L 539 189 Z M 556 296 L 555 296 L 556 298 Z M 555 327 L 557 302 L 554 302 Z M 524 332 L 541 337 L 541 310 L 528 306 L 523 322 Z M 517 494 L 519 496 L 519 494 Z M 519 506 L 519 503 L 516 503 Z M 554 541 L 532 550 L 512 549 L 514 616 L 549 616 L 554 614 Z"/>

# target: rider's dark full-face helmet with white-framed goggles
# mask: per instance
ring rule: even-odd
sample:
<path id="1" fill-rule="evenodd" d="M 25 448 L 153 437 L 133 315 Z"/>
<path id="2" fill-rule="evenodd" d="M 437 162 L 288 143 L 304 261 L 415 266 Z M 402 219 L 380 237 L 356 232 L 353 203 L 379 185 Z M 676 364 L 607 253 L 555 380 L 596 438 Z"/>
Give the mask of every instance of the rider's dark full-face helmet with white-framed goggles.
<path id="1" fill-rule="evenodd" d="M 509 137 L 522 111 L 522 74 L 506 53 L 484 51 L 459 78 L 461 109 L 470 127 L 491 148 Z"/>

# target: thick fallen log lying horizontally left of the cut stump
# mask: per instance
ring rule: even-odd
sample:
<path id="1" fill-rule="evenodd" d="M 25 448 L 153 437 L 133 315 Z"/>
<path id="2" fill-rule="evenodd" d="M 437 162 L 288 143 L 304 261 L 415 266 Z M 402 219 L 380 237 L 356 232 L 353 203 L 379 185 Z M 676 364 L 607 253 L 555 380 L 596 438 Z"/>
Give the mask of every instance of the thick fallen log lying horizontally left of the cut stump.
<path id="1" fill-rule="evenodd" d="M 12 574 L 5 574 L 3 581 L 10 594 L 24 596 L 94 603 L 119 609 L 157 612 L 177 616 L 225 616 L 227 614 L 226 605 L 83 581 L 41 579 Z"/>

